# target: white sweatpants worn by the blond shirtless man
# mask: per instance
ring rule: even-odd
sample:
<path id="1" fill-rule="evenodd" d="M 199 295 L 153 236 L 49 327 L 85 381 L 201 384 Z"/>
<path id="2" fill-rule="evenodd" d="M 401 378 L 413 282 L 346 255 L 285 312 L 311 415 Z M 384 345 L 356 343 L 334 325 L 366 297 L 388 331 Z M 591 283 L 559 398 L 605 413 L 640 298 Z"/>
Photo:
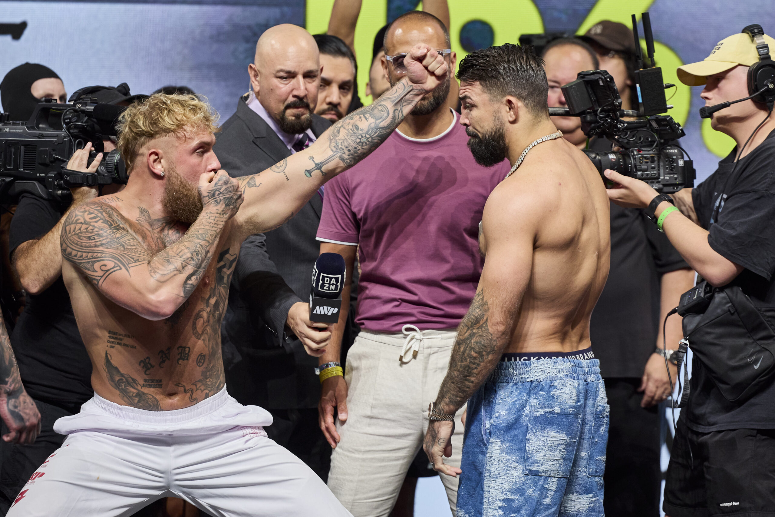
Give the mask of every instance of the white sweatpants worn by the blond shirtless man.
<path id="1" fill-rule="evenodd" d="M 38 467 L 9 517 L 132 515 L 167 496 L 216 517 L 350 515 L 301 460 L 267 438 L 271 415 L 226 388 L 152 412 L 95 395 L 57 420 L 63 445 Z"/>

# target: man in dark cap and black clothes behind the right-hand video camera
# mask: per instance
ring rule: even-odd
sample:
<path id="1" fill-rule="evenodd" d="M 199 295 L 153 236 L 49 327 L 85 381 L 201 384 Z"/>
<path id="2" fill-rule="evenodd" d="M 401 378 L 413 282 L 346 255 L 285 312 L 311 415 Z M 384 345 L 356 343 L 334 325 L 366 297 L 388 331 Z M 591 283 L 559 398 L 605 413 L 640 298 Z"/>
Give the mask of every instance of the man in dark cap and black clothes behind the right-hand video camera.
<path id="1" fill-rule="evenodd" d="M 614 78 L 622 109 L 633 109 L 636 47 L 632 29 L 605 20 L 592 26 L 582 39 L 598 54 L 601 69 Z M 595 136 L 589 148 L 610 151 L 611 141 Z M 663 412 L 659 403 L 670 394 L 670 379 L 660 355 L 660 322 L 693 284 L 694 271 L 642 210 L 611 203 L 611 270 L 590 326 L 592 350 L 600 360 L 611 406 L 603 477 L 608 515 L 660 514 Z M 670 318 L 667 348 L 676 349 L 681 337 L 680 318 Z M 676 360 L 673 350 L 668 353 Z M 672 363 L 670 374 L 676 378 Z"/>

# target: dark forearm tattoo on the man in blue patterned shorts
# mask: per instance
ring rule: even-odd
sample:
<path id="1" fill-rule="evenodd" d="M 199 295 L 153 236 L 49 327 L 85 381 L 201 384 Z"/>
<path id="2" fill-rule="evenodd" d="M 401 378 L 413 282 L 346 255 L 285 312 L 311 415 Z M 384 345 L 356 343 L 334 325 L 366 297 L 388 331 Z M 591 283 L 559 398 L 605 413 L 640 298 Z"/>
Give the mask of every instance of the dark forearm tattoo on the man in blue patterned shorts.
<path id="1" fill-rule="evenodd" d="M 480 289 L 460 322 L 436 405 L 455 410 L 462 407 L 498 364 L 508 333 L 494 334 L 489 318 L 490 307 L 484 299 L 484 289 Z"/>

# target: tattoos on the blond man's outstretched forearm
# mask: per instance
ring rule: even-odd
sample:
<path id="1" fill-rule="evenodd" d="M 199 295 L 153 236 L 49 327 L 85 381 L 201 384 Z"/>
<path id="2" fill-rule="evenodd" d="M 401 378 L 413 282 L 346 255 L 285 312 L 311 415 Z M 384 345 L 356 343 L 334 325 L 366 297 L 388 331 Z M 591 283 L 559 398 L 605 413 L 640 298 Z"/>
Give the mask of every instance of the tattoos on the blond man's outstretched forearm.
<path id="1" fill-rule="evenodd" d="M 412 91 L 415 91 L 412 84 L 399 81 L 377 102 L 336 122 L 328 132 L 329 154 L 325 157 L 308 157 L 312 167 L 304 171 L 307 178 L 312 178 L 315 171 L 325 176 L 323 168 L 336 160 L 341 161 L 345 167 L 352 167 L 377 149 L 414 108 L 415 102 L 406 98 Z"/>

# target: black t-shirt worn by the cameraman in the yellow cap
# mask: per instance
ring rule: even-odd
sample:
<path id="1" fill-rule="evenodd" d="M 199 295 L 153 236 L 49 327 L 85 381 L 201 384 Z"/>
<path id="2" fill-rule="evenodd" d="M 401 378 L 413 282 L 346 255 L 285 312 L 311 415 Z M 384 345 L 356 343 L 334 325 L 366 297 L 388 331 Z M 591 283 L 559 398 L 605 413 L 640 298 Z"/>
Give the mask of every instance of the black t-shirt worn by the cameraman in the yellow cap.
<path id="1" fill-rule="evenodd" d="M 736 152 L 735 147 L 718 162 L 715 173 L 694 189 L 694 211 L 710 232 L 711 248 L 746 268 L 731 284 L 742 288 L 766 315 L 775 315 L 775 131 L 739 160 L 734 172 L 738 179 L 725 189 Z M 717 204 L 720 210 L 714 217 Z M 722 396 L 694 357 L 690 384 L 689 403 L 682 413 L 691 429 L 701 433 L 775 429 L 775 382 L 742 405 L 734 404 Z"/>

